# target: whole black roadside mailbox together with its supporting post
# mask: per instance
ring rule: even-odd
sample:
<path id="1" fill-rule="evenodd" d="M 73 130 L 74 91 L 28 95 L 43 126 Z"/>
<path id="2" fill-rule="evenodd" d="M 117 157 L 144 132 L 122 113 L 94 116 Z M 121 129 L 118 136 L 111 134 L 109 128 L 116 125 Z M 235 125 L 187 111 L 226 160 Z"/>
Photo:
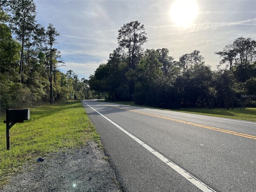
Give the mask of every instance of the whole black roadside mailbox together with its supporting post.
<path id="1" fill-rule="evenodd" d="M 7 109 L 6 110 L 6 148 L 10 150 L 10 128 L 16 123 L 23 123 L 30 119 L 29 109 Z"/>

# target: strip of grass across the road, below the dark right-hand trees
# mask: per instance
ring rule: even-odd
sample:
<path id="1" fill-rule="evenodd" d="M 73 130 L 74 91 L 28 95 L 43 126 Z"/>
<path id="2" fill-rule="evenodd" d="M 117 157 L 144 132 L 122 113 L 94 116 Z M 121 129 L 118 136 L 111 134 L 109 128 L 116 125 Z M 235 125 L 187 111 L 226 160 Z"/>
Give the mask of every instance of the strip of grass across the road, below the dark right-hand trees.
<path id="1" fill-rule="evenodd" d="M 113 102 L 116 104 L 124 104 L 130 106 L 138 106 L 138 107 L 146 107 L 146 108 L 154 108 L 149 106 L 141 106 L 136 105 L 134 102 Z M 160 108 L 155 108 L 160 109 Z M 168 109 L 161 109 L 161 110 L 168 110 Z M 239 119 L 239 120 L 246 120 L 246 121 L 255 121 L 256 122 L 256 108 L 245 108 L 245 110 L 240 110 L 240 108 L 234 108 L 226 110 L 226 109 L 208 109 L 208 108 L 181 108 L 175 109 L 170 111 L 178 111 L 184 113 L 193 113 L 193 114 L 200 114 L 200 115 L 208 115 L 208 116 L 215 116 L 215 117 L 222 117 L 222 118 L 232 118 L 232 119 Z"/>

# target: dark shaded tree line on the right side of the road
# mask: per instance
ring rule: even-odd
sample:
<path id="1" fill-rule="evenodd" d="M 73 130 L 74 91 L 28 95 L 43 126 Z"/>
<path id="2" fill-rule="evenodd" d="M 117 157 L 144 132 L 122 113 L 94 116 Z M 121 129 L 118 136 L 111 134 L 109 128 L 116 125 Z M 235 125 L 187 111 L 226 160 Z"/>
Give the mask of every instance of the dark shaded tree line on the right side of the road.
<path id="1" fill-rule="evenodd" d="M 107 100 L 160 108 L 256 107 L 256 42 L 251 38 L 237 38 L 215 52 L 220 63 L 214 71 L 199 50 L 178 61 L 167 48 L 144 50 L 148 38 L 138 21 L 124 24 L 117 41 L 108 62 L 89 78 L 90 88 L 106 92 Z"/>

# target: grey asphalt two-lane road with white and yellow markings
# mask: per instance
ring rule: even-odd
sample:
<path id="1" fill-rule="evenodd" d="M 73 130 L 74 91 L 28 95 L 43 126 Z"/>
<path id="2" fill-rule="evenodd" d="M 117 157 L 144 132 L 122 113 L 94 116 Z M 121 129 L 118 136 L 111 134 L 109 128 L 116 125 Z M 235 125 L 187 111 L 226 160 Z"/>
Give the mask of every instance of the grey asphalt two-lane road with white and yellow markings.
<path id="1" fill-rule="evenodd" d="M 256 191 L 256 122 L 82 104 L 124 191 Z"/>

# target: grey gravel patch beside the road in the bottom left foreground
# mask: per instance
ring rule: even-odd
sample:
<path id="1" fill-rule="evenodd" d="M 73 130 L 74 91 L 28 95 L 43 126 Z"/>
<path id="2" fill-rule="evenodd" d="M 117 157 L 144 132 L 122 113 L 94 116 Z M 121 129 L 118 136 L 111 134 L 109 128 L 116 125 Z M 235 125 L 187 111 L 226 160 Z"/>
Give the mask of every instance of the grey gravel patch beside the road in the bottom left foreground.
<path id="1" fill-rule="evenodd" d="M 107 158 L 95 142 L 27 164 L 1 192 L 122 192 Z"/>

